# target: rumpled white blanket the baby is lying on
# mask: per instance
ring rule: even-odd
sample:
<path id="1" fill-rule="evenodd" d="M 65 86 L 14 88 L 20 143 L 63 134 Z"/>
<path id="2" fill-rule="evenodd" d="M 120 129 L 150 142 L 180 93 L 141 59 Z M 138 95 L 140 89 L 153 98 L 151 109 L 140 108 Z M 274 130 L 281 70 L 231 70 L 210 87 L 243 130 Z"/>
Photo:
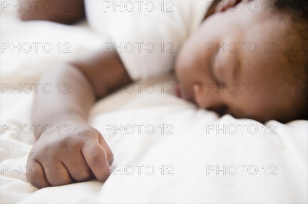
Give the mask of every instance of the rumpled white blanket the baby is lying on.
<path id="1" fill-rule="evenodd" d="M 134 84 L 133 93 L 127 86 L 91 110 L 89 123 L 114 154 L 105 183 L 31 186 L 25 165 L 34 144 L 27 129 L 34 94 L 25 84 L 58 62 L 99 49 L 103 40 L 86 22 L 22 22 L 1 12 L 1 203 L 307 203 L 307 121 L 219 118 L 177 98 L 172 76 Z M 18 42 L 20 52 L 7 48 Z M 29 53 L 25 42 L 32 44 Z M 20 83 L 21 93 L 7 89 L 11 83 Z"/>

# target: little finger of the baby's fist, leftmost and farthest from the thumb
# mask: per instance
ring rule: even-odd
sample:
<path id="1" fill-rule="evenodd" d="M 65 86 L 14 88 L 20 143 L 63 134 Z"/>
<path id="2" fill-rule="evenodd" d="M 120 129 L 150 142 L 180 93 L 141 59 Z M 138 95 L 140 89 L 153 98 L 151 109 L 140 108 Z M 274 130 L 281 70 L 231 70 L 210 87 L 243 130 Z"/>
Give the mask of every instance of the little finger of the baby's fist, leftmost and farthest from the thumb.
<path id="1" fill-rule="evenodd" d="M 30 184 L 39 189 L 51 186 L 46 179 L 44 168 L 41 163 L 35 160 L 28 160 L 27 165 L 29 166 L 29 172 L 26 177 Z"/>

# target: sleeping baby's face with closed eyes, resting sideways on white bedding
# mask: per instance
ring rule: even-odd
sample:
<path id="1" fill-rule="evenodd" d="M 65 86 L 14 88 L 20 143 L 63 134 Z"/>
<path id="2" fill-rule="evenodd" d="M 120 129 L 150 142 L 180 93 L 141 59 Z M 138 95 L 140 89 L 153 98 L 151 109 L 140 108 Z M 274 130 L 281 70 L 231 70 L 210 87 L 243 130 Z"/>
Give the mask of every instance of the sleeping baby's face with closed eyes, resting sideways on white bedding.
<path id="1" fill-rule="evenodd" d="M 216 12 L 185 42 L 175 67 L 180 95 L 236 118 L 292 120 L 295 87 L 280 75 L 289 65 L 286 22 L 277 11 L 264 12 L 263 1 L 255 3 L 255 12 L 247 3 Z"/>

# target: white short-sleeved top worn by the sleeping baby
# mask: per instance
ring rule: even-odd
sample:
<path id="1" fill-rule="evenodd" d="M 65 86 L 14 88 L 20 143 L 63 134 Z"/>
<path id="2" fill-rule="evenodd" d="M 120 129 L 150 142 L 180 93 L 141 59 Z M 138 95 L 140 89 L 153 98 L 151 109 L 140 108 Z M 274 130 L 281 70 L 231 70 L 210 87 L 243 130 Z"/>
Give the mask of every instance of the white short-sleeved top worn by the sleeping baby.
<path id="1" fill-rule="evenodd" d="M 85 0 L 90 27 L 114 46 L 134 81 L 170 72 L 180 47 L 196 31 L 213 0 Z"/>

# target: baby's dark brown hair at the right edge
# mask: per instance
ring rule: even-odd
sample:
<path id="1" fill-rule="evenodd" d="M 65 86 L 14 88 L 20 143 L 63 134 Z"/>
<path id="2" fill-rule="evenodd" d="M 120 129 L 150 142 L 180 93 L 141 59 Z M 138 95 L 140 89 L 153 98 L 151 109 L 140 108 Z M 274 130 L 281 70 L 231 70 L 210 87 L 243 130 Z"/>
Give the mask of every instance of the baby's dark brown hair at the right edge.
<path id="1" fill-rule="evenodd" d="M 308 118 L 308 0 L 271 0 L 280 14 L 290 16 L 290 34 L 295 42 L 288 44 L 285 55 L 290 62 L 287 76 L 296 86 L 295 104 L 302 119 Z"/>

